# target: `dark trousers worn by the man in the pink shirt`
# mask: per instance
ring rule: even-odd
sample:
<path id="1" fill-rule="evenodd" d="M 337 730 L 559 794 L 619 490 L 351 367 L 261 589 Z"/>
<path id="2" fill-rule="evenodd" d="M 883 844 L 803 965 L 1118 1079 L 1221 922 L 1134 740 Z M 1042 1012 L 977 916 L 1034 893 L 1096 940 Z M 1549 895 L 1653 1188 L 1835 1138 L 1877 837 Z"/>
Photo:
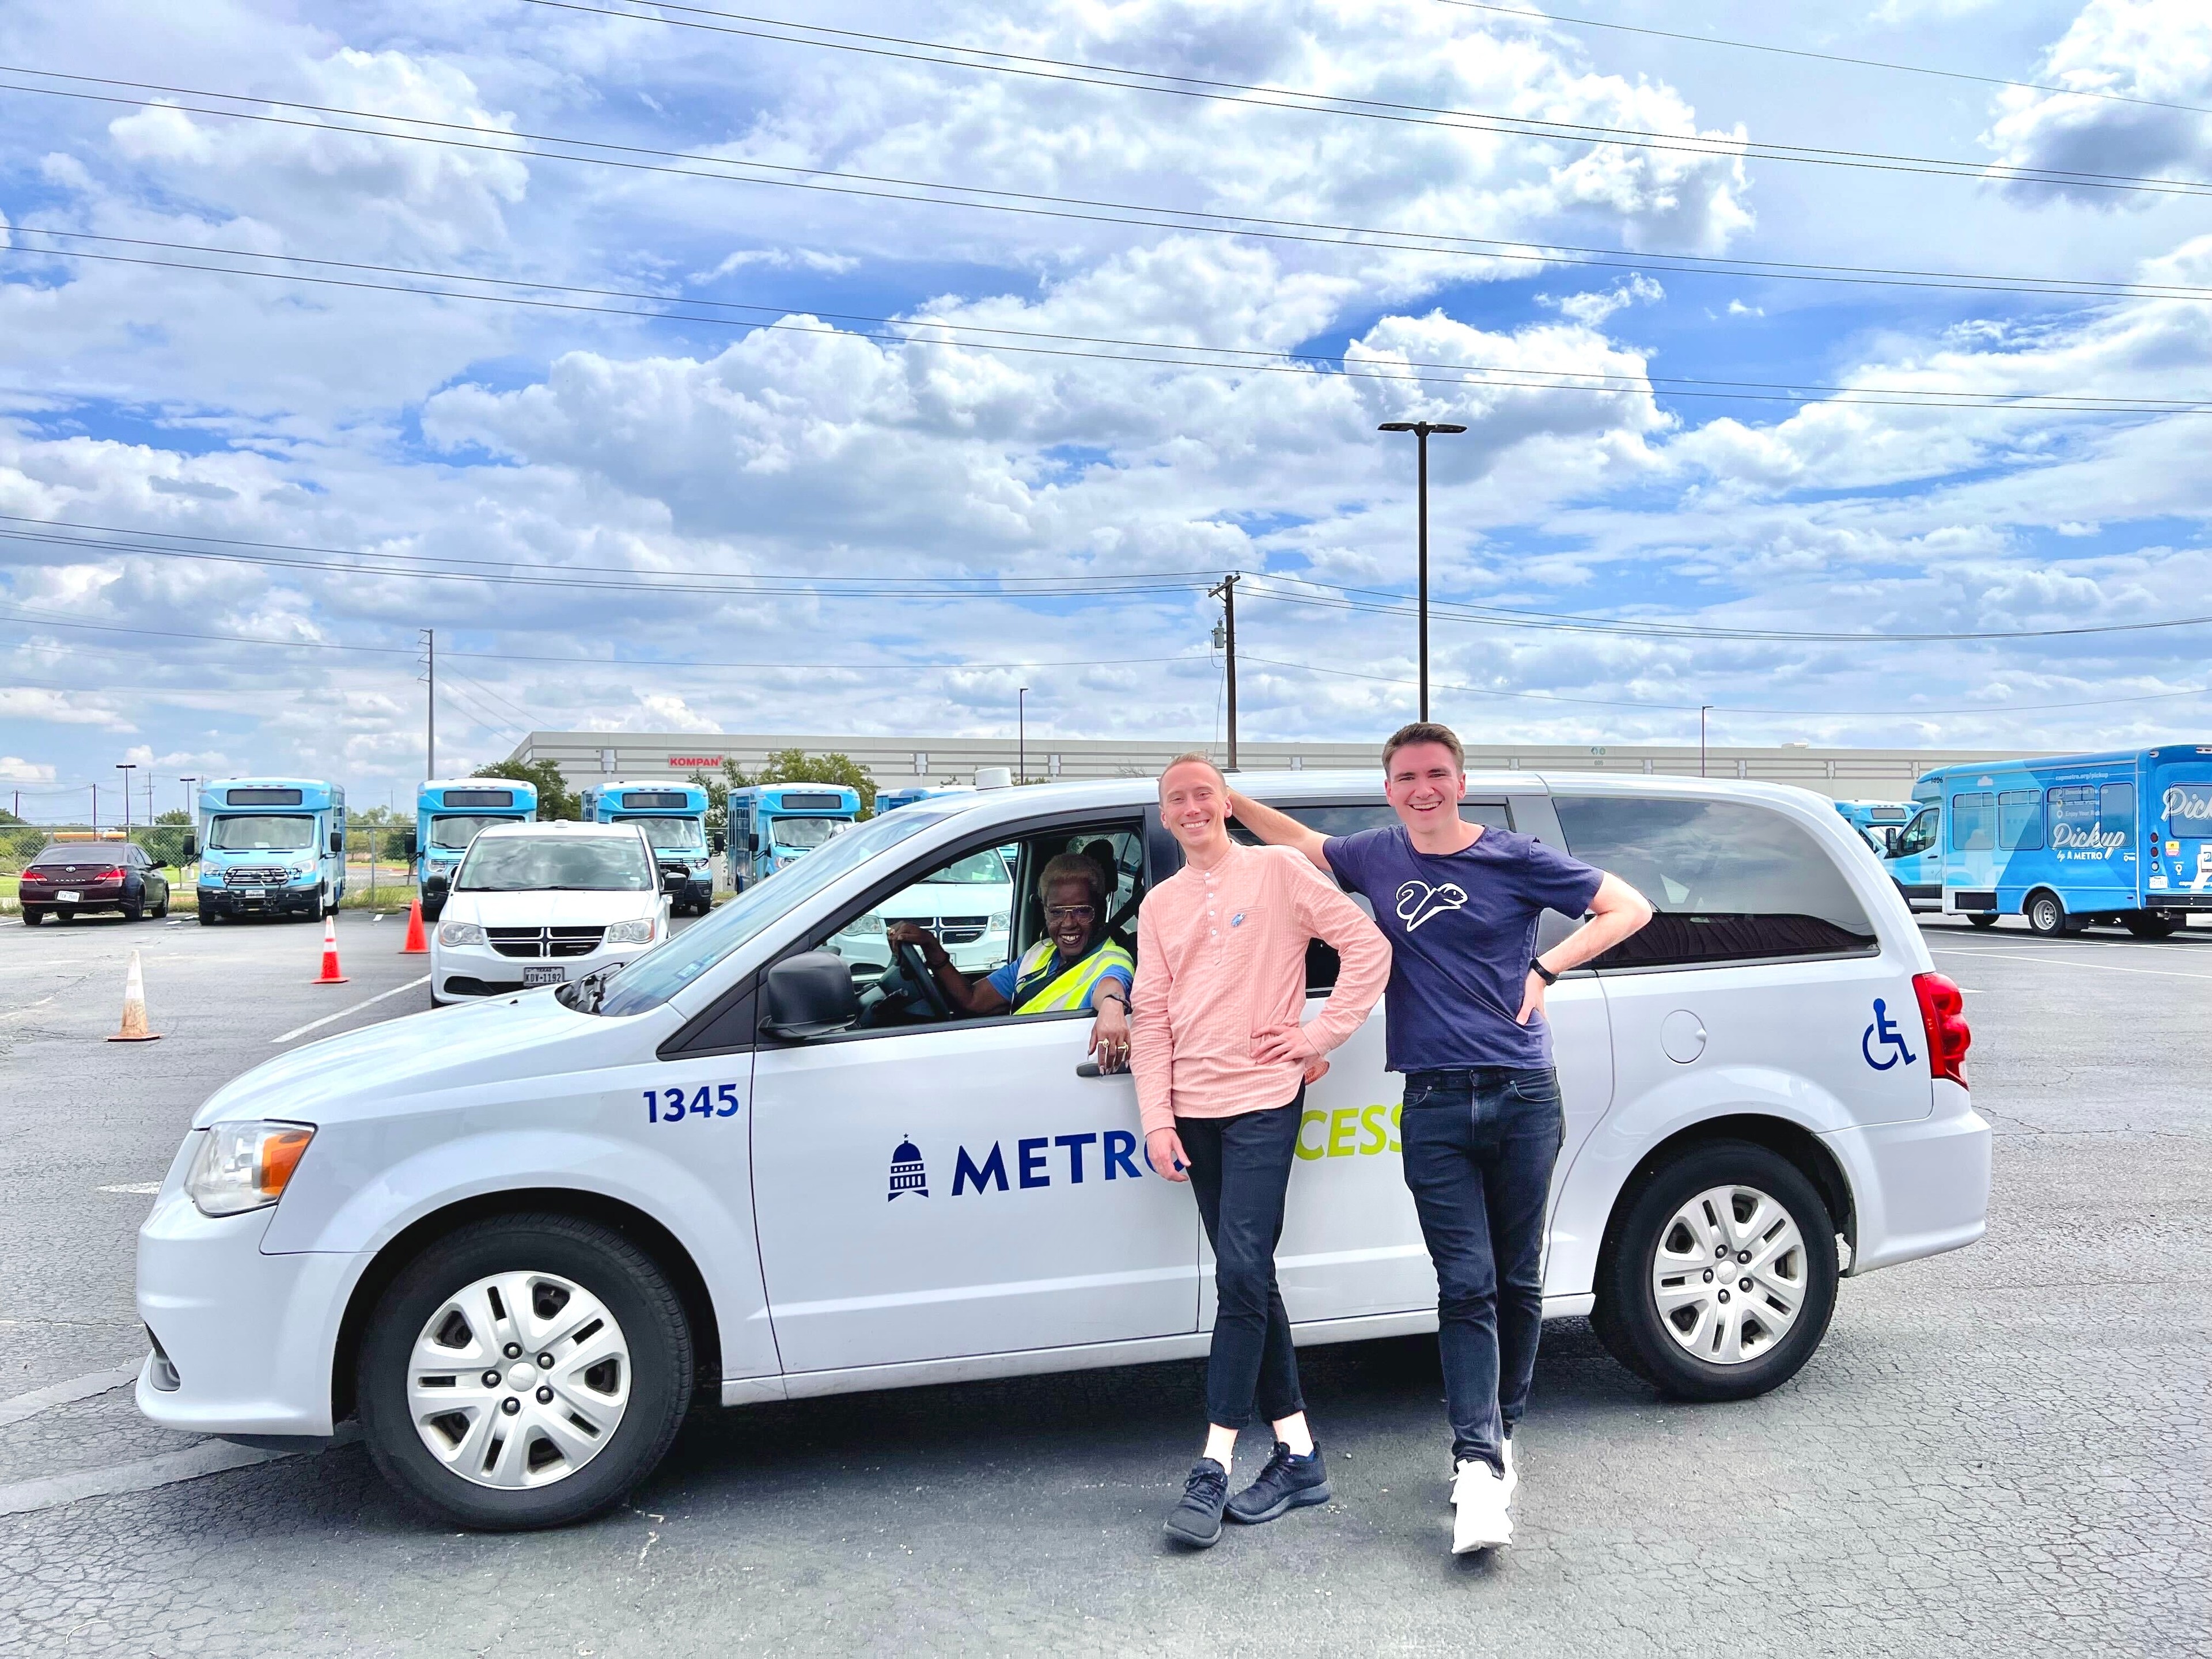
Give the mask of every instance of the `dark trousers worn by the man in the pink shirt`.
<path id="1" fill-rule="evenodd" d="M 1290 1106 L 1237 1117 L 1177 1117 L 1190 1192 L 1214 1245 L 1214 1347 L 1206 1360 L 1206 1420 L 1223 1429 L 1305 1411 L 1290 1314 L 1274 1283 L 1283 1192 L 1298 1150 L 1305 1088 Z"/>

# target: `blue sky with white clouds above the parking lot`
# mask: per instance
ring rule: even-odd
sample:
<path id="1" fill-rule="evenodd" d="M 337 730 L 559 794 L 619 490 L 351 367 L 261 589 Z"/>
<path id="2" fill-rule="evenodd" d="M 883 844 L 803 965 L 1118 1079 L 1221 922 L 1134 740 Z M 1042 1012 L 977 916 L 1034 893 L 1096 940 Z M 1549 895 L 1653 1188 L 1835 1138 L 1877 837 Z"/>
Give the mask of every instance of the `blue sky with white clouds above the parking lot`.
<path id="1" fill-rule="evenodd" d="M 2212 741 L 2212 9 L 1571 18 L 15 0 L 0 805 L 1380 737 L 1385 420 L 1471 741 Z"/>

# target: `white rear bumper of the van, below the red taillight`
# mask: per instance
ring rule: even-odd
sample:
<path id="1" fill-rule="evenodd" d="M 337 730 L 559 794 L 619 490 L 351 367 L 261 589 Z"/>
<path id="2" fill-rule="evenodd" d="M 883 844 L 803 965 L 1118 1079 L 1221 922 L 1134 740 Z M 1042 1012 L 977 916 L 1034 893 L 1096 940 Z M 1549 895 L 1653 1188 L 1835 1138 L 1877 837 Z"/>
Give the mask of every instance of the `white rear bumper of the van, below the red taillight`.
<path id="1" fill-rule="evenodd" d="M 1989 1124 L 1964 1088 L 1931 1084 L 1936 1110 L 1820 1139 L 1851 1181 L 1851 1272 L 1971 1245 L 1989 1230 Z"/>

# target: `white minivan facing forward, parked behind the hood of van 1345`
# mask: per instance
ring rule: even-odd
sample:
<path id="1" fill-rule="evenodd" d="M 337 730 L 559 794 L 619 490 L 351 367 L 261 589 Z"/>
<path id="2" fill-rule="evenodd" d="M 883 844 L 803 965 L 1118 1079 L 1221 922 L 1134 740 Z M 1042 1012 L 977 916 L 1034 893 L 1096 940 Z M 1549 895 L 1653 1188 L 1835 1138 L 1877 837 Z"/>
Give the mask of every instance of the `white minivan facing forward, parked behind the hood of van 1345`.
<path id="1" fill-rule="evenodd" d="M 568 984 L 668 938 L 659 865 L 635 823 L 498 823 L 453 872 L 429 936 L 431 1002 Z"/>

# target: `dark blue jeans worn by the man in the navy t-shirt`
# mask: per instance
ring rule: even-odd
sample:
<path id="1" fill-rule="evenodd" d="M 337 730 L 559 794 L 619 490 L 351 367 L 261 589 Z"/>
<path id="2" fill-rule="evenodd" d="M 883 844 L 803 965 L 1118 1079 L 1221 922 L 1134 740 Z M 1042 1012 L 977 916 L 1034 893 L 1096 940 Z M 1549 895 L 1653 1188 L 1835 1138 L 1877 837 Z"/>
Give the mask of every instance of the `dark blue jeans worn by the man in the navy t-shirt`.
<path id="1" fill-rule="evenodd" d="M 1398 1141 L 1436 1263 L 1451 1460 L 1502 1467 L 1544 1327 L 1544 1201 L 1566 1119 L 1544 1066 L 1411 1071 Z"/>

